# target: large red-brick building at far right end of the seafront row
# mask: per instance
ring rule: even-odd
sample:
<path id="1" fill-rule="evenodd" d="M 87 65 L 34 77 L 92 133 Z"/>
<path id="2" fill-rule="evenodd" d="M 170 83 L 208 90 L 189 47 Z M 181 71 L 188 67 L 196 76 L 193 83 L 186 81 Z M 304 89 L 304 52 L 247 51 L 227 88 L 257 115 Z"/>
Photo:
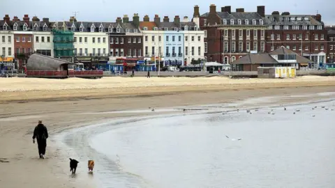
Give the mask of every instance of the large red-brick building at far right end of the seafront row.
<path id="1" fill-rule="evenodd" d="M 290 15 L 274 11 L 266 15 L 267 52 L 284 46 L 311 59 L 311 68 L 326 62 L 327 30 L 321 15 Z"/>

